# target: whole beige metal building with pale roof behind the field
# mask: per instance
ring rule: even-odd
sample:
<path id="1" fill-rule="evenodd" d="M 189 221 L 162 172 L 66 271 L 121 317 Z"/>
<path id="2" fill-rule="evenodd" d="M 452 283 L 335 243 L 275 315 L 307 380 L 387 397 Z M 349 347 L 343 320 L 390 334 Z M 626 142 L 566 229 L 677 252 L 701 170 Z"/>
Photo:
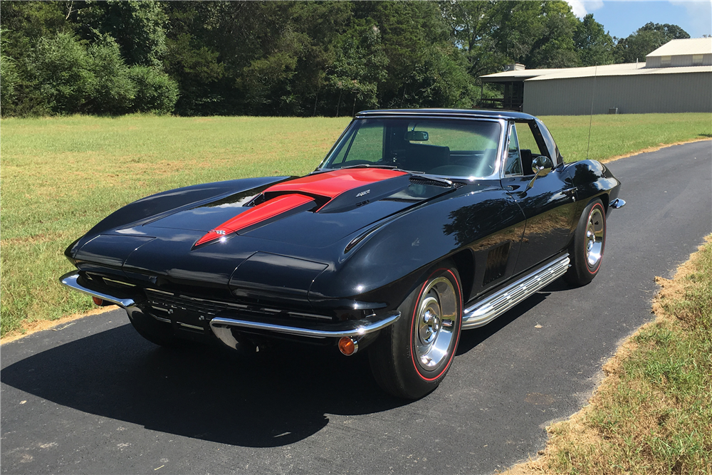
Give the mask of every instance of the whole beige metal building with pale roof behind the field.
<path id="1" fill-rule="evenodd" d="M 712 38 L 670 41 L 645 63 L 515 69 L 481 80 L 503 83 L 503 106 L 533 115 L 712 113 Z"/>

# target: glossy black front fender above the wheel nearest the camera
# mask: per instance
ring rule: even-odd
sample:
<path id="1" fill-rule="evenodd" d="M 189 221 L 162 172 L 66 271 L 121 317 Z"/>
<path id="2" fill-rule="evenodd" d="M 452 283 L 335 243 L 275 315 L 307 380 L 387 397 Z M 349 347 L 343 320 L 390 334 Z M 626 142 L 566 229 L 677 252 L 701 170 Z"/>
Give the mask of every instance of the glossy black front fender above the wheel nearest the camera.
<path id="1" fill-rule="evenodd" d="M 319 306 L 335 298 L 353 298 L 394 308 L 434 263 L 464 249 L 473 254 L 486 251 L 491 236 L 519 244 L 524 219 L 502 189 L 465 190 L 412 209 L 372 231 L 352 256 L 315 278 L 309 300 Z M 511 229 L 519 231 L 508 234 Z"/>

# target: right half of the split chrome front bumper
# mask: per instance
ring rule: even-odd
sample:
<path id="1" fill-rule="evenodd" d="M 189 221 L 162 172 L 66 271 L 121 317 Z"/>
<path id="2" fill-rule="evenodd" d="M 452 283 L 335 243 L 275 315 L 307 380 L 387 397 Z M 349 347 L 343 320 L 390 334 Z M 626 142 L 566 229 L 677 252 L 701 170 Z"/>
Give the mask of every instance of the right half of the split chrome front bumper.
<path id="1" fill-rule="evenodd" d="M 276 333 L 287 333 L 288 335 L 305 336 L 310 338 L 341 338 L 360 337 L 367 333 L 386 328 L 400 318 L 400 312 L 386 313 L 377 319 L 365 318 L 362 320 L 352 320 L 349 322 L 333 325 L 333 329 L 325 325 L 313 327 L 291 327 L 286 325 L 276 325 L 274 323 L 255 322 L 251 320 L 238 320 L 236 318 L 216 317 L 210 320 L 210 328 L 217 338 L 226 345 L 235 348 L 236 343 L 232 335 L 231 328 L 251 328 L 253 330 L 267 330 Z"/>

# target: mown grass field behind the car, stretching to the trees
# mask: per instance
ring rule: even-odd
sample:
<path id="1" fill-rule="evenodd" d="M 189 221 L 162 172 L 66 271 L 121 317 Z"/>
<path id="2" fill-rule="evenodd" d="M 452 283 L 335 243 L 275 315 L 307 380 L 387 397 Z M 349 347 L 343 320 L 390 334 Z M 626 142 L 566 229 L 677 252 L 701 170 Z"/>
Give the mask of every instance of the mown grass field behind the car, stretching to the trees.
<path id="1" fill-rule="evenodd" d="M 589 117 L 543 118 L 568 161 L 586 156 Z M 348 118 L 4 119 L 0 127 L 0 335 L 91 308 L 57 281 L 62 252 L 148 194 L 240 177 L 304 174 Z M 708 114 L 601 115 L 590 158 L 712 137 Z"/>

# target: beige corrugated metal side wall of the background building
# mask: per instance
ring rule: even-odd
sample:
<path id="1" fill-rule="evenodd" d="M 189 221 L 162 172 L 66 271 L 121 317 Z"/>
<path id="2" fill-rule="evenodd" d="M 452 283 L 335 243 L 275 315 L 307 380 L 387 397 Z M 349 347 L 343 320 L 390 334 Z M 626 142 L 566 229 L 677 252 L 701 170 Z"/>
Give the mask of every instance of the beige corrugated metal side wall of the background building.
<path id="1" fill-rule="evenodd" d="M 712 73 L 666 73 L 524 81 L 523 111 L 532 115 L 712 113 Z"/>

